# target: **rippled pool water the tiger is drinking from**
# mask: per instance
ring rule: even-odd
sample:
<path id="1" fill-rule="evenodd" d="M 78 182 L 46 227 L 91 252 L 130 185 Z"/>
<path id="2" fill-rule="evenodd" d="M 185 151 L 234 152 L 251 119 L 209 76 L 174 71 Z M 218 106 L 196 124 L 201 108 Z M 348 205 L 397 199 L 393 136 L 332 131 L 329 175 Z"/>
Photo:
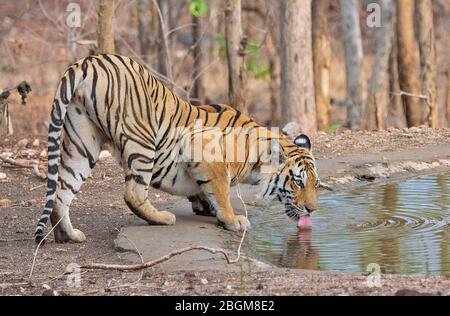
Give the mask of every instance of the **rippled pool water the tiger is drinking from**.
<path id="1" fill-rule="evenodd" d="M 313 230 L 281 208 L 254 223 L 255 255 L 277 266 L 333 272 L 450 276 L 450 175 L 367 186 L 320 197 Z"/>

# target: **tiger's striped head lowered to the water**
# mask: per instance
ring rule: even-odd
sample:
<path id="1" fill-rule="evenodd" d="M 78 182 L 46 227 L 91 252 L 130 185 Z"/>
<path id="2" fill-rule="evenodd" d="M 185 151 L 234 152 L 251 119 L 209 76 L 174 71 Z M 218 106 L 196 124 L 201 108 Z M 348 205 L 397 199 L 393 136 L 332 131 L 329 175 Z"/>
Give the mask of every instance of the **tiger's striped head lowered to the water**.
<path id="1" fill-rule="evenodd" d="M 281 163 L 270 176 L 265 197 L 275 198 L 284 204 L 286 214 L 298 221 L 317 210 L 317 190 L 320 185 L 311 141 L 306 135 L 294 140 L 294 145 L 284 146 L 280 152 Z"/>

